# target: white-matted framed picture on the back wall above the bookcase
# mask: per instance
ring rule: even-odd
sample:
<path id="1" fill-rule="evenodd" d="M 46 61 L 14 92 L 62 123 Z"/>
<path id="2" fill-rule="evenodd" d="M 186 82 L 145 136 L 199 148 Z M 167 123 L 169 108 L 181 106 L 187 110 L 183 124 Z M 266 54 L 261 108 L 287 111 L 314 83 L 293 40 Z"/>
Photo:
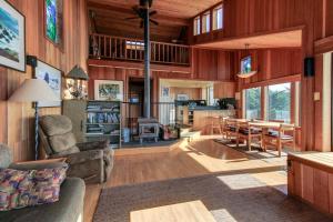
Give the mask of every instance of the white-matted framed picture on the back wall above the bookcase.
<path id="1" fill-rule="evenodd" d="M 94 80 L 94 99 L 123 101 L 123 82 L 115 80 Z"/>

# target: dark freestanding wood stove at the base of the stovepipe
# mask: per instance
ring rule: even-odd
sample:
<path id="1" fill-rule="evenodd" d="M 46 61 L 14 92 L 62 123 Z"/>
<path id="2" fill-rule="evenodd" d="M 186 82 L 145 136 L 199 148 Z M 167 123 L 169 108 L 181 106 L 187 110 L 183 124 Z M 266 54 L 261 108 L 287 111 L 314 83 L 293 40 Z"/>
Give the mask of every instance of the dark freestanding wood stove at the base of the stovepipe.
<path id="1" fill-rule="evenodd" d="M 139 139 L 140 143 L 143 143 L 143 139 L 154 139 L 159 141 L 160 123 L 155 119 L 141 118 L 139 123 Z"/>

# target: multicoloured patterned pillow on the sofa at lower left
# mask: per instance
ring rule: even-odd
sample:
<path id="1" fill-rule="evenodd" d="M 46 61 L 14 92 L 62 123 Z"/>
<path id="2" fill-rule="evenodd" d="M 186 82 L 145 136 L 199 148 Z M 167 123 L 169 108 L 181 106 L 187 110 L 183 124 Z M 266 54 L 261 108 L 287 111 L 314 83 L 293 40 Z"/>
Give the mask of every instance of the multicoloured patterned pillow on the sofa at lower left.
<path id="1" fill-rule="evenodd" d="M 67 169 L 0 170 L 0 211 L 57 202 Z"/>

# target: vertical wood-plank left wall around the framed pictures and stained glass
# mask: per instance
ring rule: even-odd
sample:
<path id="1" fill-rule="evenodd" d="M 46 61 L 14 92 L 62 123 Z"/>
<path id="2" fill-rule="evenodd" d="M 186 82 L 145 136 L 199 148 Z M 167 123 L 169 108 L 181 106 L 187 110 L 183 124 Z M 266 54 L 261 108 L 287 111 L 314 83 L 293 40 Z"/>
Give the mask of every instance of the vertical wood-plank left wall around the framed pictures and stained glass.
<path id="1" fill-rule="evenodd" d="M 43 0 L 10 0 L 26 16 L 27 54 L 68 73 L 74 64 L 87 69 L 88 30 L 85 0 L 63 1 L 63 49 L 56 48 L 44 38 Z M 0 142 L 12 148 L 16 161 L 32 160 L 34 145 L 33 109 L 31 104 L 9 103 L 8 98 L 24 81 L 32 78 L 26 73 L 0 68 Z M 41 114 L 60 113 L 60 108 L 41 109 Z"/>

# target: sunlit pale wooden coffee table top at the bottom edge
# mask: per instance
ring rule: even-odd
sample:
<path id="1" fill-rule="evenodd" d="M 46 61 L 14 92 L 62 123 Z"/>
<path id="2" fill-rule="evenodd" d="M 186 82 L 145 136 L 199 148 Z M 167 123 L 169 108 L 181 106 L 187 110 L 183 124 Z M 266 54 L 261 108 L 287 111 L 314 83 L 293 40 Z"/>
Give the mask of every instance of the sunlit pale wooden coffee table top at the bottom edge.
<path id="1" fill-rule="evenodd" d="M 216 222 L 201 201 L 131 212 L 131 222 Z"/>

